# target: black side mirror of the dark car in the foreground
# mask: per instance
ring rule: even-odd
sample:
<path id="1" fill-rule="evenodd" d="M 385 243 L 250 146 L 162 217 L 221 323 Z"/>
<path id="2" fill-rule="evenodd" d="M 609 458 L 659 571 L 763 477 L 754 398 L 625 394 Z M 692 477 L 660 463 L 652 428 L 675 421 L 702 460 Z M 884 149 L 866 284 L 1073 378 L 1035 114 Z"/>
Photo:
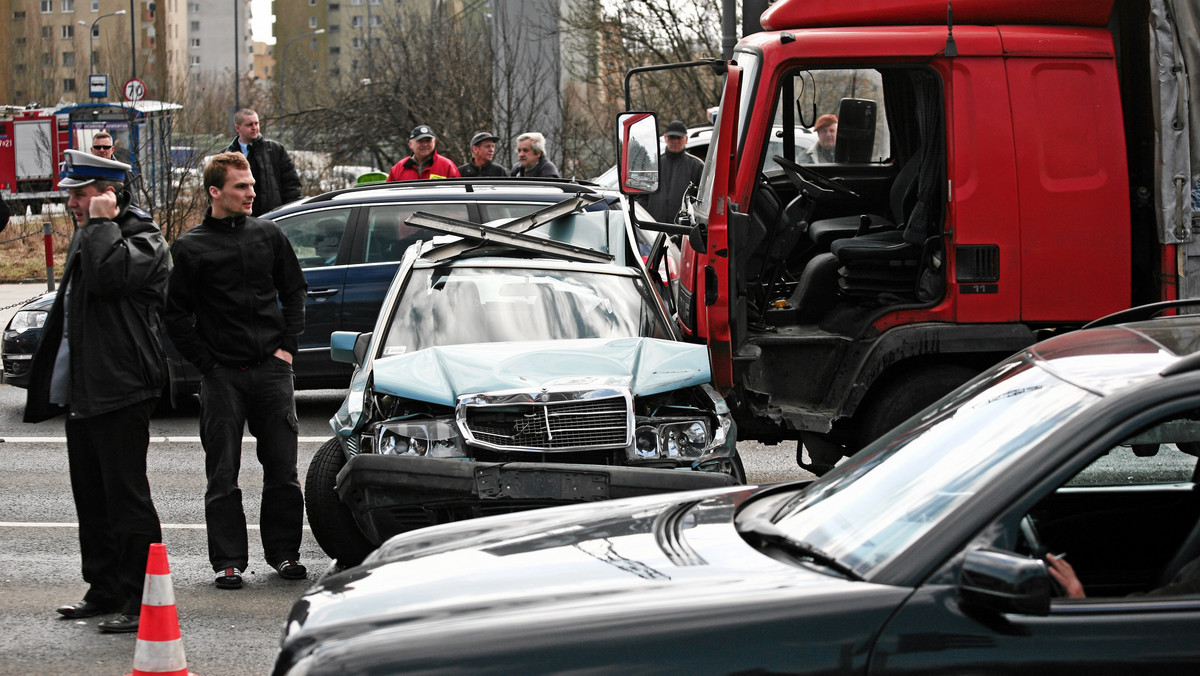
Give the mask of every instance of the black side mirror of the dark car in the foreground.
<path id="1" fill-rule="evenodd" d="M 1039 558 L 979 549 L 962 561 L 962 602 L 996 612 L 1050 614 L 1050 572 Z"/>

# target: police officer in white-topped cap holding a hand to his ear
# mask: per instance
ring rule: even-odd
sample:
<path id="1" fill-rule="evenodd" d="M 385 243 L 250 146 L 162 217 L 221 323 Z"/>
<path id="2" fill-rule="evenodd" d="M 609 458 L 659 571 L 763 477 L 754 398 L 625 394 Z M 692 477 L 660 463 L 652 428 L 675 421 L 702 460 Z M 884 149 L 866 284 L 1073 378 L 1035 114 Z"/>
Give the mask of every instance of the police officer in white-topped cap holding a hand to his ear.
<path id="1" fill-rule="evenodd" d="M 58 612 L 120 612 L 136 632 L 151 543 L 162 542 L 146 479 L 150 413 L 167 382 L 160 341 L 172 262 L 154 220 L 128 205 L 130 166 L 64 151 L 59 185 L 76 232 L 30 371 L 26 423 L 66 413 L 67 465 L 88 592 Z"/>

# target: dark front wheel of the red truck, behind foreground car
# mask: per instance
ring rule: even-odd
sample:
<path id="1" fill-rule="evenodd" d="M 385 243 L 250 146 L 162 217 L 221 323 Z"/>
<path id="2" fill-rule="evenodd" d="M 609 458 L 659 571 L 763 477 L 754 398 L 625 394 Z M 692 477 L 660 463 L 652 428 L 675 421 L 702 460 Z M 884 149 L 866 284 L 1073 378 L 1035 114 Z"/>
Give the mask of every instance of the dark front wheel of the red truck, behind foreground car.
<path id="1" fill-rule="evenodd" d="M 858 449 L 912 418 L 979 372 L 968 366 L 941 364 L 893 378 L 875 393 L 862 412 Z"/>

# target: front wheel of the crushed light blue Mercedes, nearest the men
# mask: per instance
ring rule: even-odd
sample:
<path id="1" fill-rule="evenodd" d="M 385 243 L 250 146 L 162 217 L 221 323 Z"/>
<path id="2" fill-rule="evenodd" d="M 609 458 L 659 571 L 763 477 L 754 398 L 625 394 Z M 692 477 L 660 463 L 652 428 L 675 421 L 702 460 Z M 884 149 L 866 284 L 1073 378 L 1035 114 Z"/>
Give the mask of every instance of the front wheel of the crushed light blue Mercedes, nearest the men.
<path id="1" fill-rule="evenodd" d="M 338 566 L 349 568 L 362 563 L 366 555 L 374 550 L 374 545 L 359 531 L 350 509 L 342 504 L 334 490 L 337 473 L 343 466 L 346 454 L 342 444 L 336 438 L 322 444 L 308 463 L 304 497 L 308 526 L 317 544 L 331 558 L 336 558 Z"/>

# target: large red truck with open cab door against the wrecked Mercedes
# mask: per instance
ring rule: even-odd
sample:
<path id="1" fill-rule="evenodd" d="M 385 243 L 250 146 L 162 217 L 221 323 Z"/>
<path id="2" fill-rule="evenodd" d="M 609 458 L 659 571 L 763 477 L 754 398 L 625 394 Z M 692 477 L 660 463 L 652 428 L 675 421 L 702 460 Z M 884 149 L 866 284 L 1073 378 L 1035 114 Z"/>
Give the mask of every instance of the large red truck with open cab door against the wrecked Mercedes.
<path id="1" fill-rule="evenodd" d="M 761 23 L 720 65 L 678 299 L 742 438 L 823 472 L 1042 337 L 1200 295 L 1196 0 L 779 0 Z M 830 156 L 797 156 L 824 114 Z M 656 127 L 620 114 L 626 193 L 655 190 Z"/>

